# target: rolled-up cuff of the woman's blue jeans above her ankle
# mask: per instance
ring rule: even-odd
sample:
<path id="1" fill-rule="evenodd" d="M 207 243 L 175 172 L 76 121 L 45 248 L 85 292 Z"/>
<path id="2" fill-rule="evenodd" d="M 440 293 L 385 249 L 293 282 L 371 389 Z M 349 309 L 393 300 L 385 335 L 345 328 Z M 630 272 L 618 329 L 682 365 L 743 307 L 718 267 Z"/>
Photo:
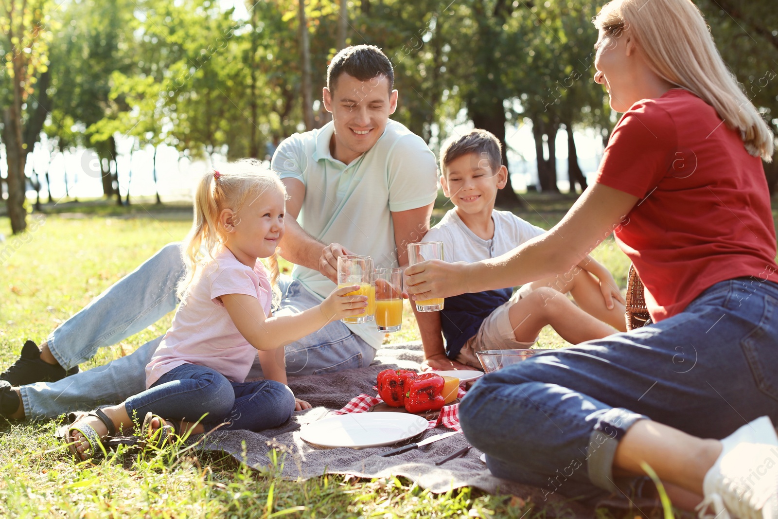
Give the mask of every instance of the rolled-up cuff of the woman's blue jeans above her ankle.
<path id="1" fill-rule="evenodd" d="M 609 492 L 621 492 L 613 478 L 616 447 L 629 428 L 643 419 L 649 418 L 622 408 L 609 409 L 598 419 L 587 446 L 587 469 L 592 484 Z"/>

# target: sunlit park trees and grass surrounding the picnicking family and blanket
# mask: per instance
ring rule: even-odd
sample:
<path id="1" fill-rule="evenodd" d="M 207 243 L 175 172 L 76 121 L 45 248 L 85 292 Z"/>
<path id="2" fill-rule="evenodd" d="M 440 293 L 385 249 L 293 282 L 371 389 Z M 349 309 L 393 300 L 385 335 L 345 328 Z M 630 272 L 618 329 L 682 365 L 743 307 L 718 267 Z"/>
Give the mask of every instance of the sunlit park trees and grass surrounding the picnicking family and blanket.
<path id="1" fill-rule="evenodd" d="M 42 341 L 159 247 L 183 238 L 202 171 L 243 156 L 265 160 L 285 137 L 325 124 L 326 65 L 345 44 L 384 49 L 400 93 L 393 118 L 435 153 L 469 128 L 498 135 L 513 183 L 499 206 L 549 229 L 593 180 L 618 121 L 591 79 L 591 17 L 604 3 L 0 0 L 0 366 L 16 359 L 24 340 Z M 778 135 L 774 0 L 696 4 Z M 773 164 L 766 175 L 773 192 Z M 450 207 L 440 195 L 433 221 Z M 774 218 L 775 208 L 773 198 Z M 623 289 L 629 261 L 612 237 L 593 255 Z M 162 334 L 171 317 L 82 369 L 128 354 Z M 387 342 L 418 338 L 406 305 L 403 331 Z M 566 345 L 549 328 L 540 343 Z M 285 482 L 274 469 L 281 461 L 254 472 L 193 451 L 81 468 L 54 441 L 55 425 L 0 423 L 0 516 L 555 513 L 475 489 L 435 496 L 404 479 Z M 628 514 L 635 515 L 643 514 Z"/>

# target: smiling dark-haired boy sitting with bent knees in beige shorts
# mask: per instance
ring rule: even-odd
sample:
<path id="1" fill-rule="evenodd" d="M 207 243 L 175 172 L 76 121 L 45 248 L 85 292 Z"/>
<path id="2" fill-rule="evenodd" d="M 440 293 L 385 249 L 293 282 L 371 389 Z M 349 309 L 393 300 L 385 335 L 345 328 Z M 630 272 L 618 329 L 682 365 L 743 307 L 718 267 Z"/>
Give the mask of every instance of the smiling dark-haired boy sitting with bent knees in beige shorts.
<path id="1" fill-rule="evenodd" d="M 545 233 L 509 211 L 494 210 L 508 171 L 491 133 L 473 130 L 449 142 L 440 153 L 440 171 L 443 194 L 454 209 L 422 241 L 442 241 L 446 261 L 495 258 Z M 448 297 L 440 312 L 416 312 L 426 363 L 440 370 L 480 369 L 475 352 L 531 348 L 546 324 L 573 344 L 626 330 L 621 293 L 611 273 L 590 257 L 566 274 L 511 292 L 466 293 Z"/>

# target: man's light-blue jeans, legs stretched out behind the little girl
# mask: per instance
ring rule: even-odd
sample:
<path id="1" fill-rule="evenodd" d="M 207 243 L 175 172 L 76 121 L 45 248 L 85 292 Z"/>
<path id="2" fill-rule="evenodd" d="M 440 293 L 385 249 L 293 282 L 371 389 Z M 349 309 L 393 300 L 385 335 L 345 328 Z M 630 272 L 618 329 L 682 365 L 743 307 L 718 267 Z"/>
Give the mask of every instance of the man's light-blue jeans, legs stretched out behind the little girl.
<path id="1" fill-rule="evenodd" d="M 166 245 L 55 329 L 47 338 L 52 355 L 70 368 L 92 358 L 98 349 L 154 324 L 177 306 L 175 287 L 183 275 L 180 244 Z M 320 302 L 288 276 L 279 279 L 279 289 L 282 301 L 276 314 L 301 312 Z M 41 420 L 115 404 L 145 391 L 145 366 L 161 340 L 155 338 L 131 355 L 57 382 L 21 387 L 26 418 Z M 369 366 L 374 354 L 362 338 L 336 321 L 286 345 L 286 369 L 292 376 L 330 373 Z M 247 380 L 261 375 L 259 362 L 254 362 Z"/>

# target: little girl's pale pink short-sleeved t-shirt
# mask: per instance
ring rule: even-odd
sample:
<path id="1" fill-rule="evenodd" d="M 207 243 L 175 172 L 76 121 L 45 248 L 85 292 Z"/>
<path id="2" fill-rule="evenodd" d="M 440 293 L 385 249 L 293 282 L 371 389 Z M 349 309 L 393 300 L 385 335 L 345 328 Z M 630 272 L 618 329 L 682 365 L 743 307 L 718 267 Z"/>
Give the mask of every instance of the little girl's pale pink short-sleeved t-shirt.
<path id="1" fill-rule="evenodd" d="M 146 387 L 182 364 L 207 366 L 233 382 L 243 382 L 257 357 L 233 324 L 219 297 L 245 294 L 259 300 L 270 315 L 272 288 L 268 271 L 257 260 L 254 268 L 240 263 L 228 249 L 202 267 L 189 293 L 146 366 Z"/>

